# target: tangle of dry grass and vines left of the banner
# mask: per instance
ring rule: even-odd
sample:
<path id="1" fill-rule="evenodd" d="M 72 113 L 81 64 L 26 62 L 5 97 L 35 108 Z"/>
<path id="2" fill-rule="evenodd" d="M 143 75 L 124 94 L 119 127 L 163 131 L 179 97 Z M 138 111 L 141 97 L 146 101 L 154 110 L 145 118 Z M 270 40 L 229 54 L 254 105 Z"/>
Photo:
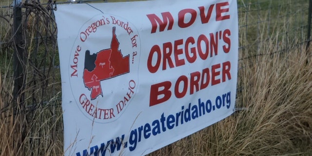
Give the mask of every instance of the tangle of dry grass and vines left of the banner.
<path id="1" fill-rule="evenodd" d="M 2 2 L 2 0 L 0 0 Z M 0 156 L 59 156 L 63 151 L 56 24 L 37 0 L 23 8 L 23 96 L 13 93 L 13 8 L 0 8 Z M 1 3 L 2 4 L 2 3 Z M 8 5 L 7 5 L 8 6 Z"/>

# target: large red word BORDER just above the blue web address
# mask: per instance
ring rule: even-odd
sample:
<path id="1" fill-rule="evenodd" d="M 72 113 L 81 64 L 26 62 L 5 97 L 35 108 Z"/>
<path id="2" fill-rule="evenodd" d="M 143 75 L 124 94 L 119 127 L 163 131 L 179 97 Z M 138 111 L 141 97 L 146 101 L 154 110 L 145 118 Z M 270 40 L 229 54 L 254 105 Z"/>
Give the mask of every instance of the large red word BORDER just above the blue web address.
<path id="1" fill-rule="evenodd" d="M 218 63 L 212 65 L 211 70 L 210 68 L 205 68 L 202 71 L 195 71 L 193 73 L 190 73 L 190 78 L 188 78 L 185 75 L 182 75 L 176 80 L 174 86 L 175 96 L 176 98 L 183 98 L 185 97 L 188 90 L 189 95 L 193 95 L 195 92 L 207 88 L 210 82 L 211 85 L 213 86 L 221 83 L 221 79 L 222 82 L 225 82 L 227 79 L 230 80 L 231 79 L 230 70 L 231 70 L 231 62 L 226 61 L 222 63 L 222 68 L 221 63 Z M 220 75 L 221 73 L 222 78 Z M 171 81 L 164 81 L 151 85 L 150 107 L 169 100 L 172 95 L 171 87 L 172 87 Z"/>

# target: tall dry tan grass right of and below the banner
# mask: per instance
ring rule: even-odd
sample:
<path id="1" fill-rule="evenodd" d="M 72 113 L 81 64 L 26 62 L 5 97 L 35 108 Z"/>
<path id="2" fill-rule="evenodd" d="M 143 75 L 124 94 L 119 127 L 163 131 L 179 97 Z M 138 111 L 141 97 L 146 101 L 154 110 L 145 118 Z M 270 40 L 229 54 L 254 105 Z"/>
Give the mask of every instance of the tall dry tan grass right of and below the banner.
<path id="1" fill-rule="evenodd" d="M 268 53 L 276 50 L 262 45 Z M 214 125 L 150 156 L 312 155 L 312 49 L 305 46 L 240 61 L 236 105 Z"/>

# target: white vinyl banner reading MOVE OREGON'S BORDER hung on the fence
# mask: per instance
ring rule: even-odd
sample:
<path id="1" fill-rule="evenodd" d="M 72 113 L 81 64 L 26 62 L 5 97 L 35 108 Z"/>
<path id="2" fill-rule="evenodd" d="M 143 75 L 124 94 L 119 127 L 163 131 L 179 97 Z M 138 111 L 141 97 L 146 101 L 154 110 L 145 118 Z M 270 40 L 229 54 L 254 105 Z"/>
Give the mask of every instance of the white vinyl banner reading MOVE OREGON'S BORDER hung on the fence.
<path id="1" fill-rule="evenodd" d="M 234 112 L 236 0 L 63 4 L 55 18 L 66 156 L 146 155 Z"/>

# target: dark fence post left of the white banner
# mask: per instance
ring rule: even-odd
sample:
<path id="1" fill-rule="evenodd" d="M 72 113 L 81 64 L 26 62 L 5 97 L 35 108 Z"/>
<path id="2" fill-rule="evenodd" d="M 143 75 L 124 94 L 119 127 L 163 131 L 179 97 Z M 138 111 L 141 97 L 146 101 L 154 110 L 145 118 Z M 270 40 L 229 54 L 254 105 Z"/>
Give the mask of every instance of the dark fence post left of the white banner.
<path id="1" fill-rule="evenodd" d="M 19 130 L 19 135 L 15 136 L 15 146 L 20 146 L 25 138 L 25 125 L 21 118 L 21 113 L 24 111 L 24 86 L 25 86 L 25 57 L 24 57 L 24 46 L 22 36 L 22 10 L 21 10 L 21 0 L 14 0 L 13 8 L 13 39 L 14 39 L 14 60 L 13 60 L 13 70 L 14 70 L 14 108 L 13 116 L 14 122 L 17 123 Z"/>

